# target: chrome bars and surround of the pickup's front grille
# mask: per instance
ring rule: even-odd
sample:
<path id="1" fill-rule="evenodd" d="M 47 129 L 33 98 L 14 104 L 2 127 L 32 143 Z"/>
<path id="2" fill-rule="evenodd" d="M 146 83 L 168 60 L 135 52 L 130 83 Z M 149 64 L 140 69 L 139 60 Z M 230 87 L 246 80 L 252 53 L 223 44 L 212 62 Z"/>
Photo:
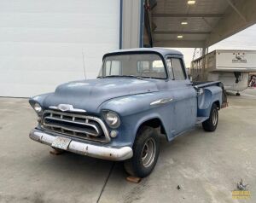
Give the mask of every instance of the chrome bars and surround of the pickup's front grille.
<path id="1" fill-rule="evenodd" d="M 45 113 L 50 113 L 50 115 L 52 114 L 58 114 L 60 115 L 61 118 L 63 118 L 63 116 L 67 116 L 67 117 L 73 117 L 72 120 L 67 120 L 67 119 L 57 119 L 55 117 L 49 117 L 49 116 L 45 116 L 44 117 L 44 114 Z M 95 138 L 88 138 L 86 136 L 76 136 L 75 133 L 73 135 L 69 134 L 69 133 L 65 133 L 64 131 L 67 130 L 67 131 L 77 131 L 77 130 L 73 130 L 73 129 L 68 129 L 66 127 L 63 127 L 63 126 L 60 126 L 60 125 L 56 125 L 56 126 L 49 126 L 49 125 L 45 125 L 44 123 L 44 119 L 47 119 L 47 118 L 50 118 L 50 119 L 55 119 L 55 120 L 60 120 L 60 121 L 63 121 L 63 122 L 68 122 L 68 123 L 73 123 L 73 124 L 79 124 L 79 125 L 88 125 L 90 127 L 93 127 L 94 129 L 96 129 L 97 133 L 99 133 L 97 127 L 95 125 L 91 125 L 88 123 L 88 120 L 93 120 L 93 121 L 96 121 L 97 124 L 99 124 L 102 128 L 102 131 L 103 131 L 103 135 L 104 135 L 104 138 L 105 139 L 101 139 L 101 138 L 97 138 L 98 135 L 96 134 L 92 134 L 90 136 L 95 136 Z M 78 118 L 78 119 L 84 119 L 84 123 L 82 122 L 75 122 L 74 120 Z M 45 127 L 44 127 L 45 125 Z M 80 139 L 84 139 L 84 140 L 90 140 L 90 141 L 95 141 L 95 142 L 110 142 L 111 138 L 109 136 L 109 132 L 108 132 L 108 129 L 106 127 L 106 125 L 104 124 L 104 122 L 102 121 L 102 119 L 99 119 L 99 118 L 96 118 L 96 117 L 92 117 L 92 116 L 87 116 L 87 115 L 79 115 L 79 114 L 75 114 L 75 113 L 63 113 L 63 112 L 57 112 L 57 111 L 52 111 L 52 110 L 45 110 L 44 113 L 43 113 L 43 117 L 42 117 L 42 121 L 41 121 L 41 127 L 45 130 L 45 131 L 53 131 L 55 133 L 61 133 L 61 134 L 64 134 L 64 135 L 67 135 L 67 136 L 75 136 L 75 137 L 79 137 Z M 56 128 L 61 128 L 63 130 L 61 130 L 61 132 L 59 131 L 54 131 L 52 129 L 49 129 L 51 127 L 56 127 Z M 77 131 L 77 132 L 82 132 L 82 133 L 86 133 L 84 131 Z"/>

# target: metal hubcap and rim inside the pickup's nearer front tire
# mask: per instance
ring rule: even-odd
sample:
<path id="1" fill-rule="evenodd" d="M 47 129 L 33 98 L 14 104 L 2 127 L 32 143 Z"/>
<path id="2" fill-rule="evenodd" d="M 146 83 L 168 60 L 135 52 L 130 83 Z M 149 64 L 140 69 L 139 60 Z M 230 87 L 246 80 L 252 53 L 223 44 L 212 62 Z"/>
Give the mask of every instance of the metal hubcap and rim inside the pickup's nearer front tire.
<path id="1" fill-rule="evenodd" d="M 153 138 L 148 138 L 143 146 L 142 161 L 144 167 L 152 165 L 155 156 L 155 142 Z"/>

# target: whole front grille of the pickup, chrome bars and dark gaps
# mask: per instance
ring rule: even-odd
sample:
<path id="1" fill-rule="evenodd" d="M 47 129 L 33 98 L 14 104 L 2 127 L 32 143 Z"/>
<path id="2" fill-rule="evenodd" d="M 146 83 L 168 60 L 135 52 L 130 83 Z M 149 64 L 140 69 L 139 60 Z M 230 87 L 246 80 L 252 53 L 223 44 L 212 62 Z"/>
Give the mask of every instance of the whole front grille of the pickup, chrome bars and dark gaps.
<path id="1" fill-rule="evenodd" d="M 108 130 L 102 119 L 93 116 L 46 110 L 43 113 L 41 126 L 48 131 L 90 141 L 110 141 Z"/>

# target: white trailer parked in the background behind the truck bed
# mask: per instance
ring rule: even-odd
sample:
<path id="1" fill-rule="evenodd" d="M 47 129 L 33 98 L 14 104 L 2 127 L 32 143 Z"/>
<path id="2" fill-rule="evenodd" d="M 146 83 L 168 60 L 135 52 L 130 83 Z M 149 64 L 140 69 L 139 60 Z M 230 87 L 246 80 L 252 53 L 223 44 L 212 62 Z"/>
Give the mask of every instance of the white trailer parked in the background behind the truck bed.
<path id="1" fill-rule="evenodd" d="M 249 73 L 256 72 L 256 50 L 214 50 L 192 61 L 193 81 L 221 81 L 224 90 L 247 89 Z"/>

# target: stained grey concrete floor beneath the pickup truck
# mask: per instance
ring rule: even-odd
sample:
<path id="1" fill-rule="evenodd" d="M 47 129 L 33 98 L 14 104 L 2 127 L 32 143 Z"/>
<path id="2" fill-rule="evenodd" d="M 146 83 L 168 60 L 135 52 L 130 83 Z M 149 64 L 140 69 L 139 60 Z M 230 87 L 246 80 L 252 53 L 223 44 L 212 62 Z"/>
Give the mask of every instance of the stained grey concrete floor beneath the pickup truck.
<path id="1" fill-rule="evenodd" d="M 0 98 L 0 202 L 256 202 L 256 89 L 229 102 L 217 131 L 161 139 L 154 172 L 136 184 L 121 163 L 50 155 L 28 138 L 36 114 L 27 100 Z M 241 178 L 250 200 L 232 200 Z"/>

